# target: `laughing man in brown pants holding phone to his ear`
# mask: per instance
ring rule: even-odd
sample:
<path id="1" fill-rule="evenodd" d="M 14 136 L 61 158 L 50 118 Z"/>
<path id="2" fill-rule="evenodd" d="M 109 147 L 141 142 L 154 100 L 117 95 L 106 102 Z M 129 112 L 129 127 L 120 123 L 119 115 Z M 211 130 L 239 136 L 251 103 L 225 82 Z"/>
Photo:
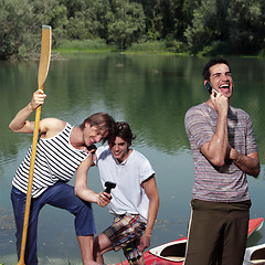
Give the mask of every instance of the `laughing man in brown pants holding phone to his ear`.
<path id="1" fill-rule="evenodd" d="M 184 265 L 241 265 L 251 206 L 246 174 L 259 173 L 257 147 L 250 116 L 230 106 L 229 63 L 210 60 L 203 78 L 213 87 L 210 99 L 186 114 L 194 186 Z"/>

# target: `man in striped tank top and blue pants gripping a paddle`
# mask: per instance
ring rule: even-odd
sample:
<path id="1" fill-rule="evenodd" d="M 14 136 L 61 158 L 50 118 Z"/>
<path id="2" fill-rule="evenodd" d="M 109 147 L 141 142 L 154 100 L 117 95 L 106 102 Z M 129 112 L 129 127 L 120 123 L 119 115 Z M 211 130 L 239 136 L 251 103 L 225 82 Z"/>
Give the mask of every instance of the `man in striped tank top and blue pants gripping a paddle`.
<path id="1" fill-rule="evenodd" d="M 33 134 L 34 121 L 28 120 L 34 109 L 45 99 L 43 91 L 33 94 L 32 100 L 21 109 L 9 127 L 14 132 Z M 56 118 L 40 120 L 40 137 L 36 145 L 35 166 L 32 184 L 31 211 L 25 246 L 25 264 L 38 264 L 36 231 L 38 216 L 45 204 L 67 210 L 75 215 L 75 232 L 84 265 L 93 261 L 93 235 L 95 223 L 91 202 L 100 206 L 109 203 L 108 193 L 99 194 L 87 189 L 87 202 L 74 193 L 67 181 L 75 174 L 87 173 L 91 160 L 89 146 L 105 141 L 114 135 L 115 120 L 105 113 L 91 115 L 78 127 Z M 20 257 L 23 231 L 24 206 L 28 191 L 31 150 L 18 168 L 12 181 L 11 199 L 17 224 L 17 251 Z M 85 176 L 86 177 L 86 176 Z"/>

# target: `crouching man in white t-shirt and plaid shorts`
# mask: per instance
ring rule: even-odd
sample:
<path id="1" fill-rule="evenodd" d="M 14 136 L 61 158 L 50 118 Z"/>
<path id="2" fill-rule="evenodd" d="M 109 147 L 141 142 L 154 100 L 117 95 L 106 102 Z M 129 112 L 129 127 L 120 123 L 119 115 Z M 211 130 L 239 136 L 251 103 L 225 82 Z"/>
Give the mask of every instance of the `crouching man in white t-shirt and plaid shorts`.
<path id="1" fill-rule="evenodd" d="M 94 258 L 99 264 L 104 253 L 120 248 L 129 262 L 142 264 L 142 252 L 150 246 L 159 195 L 155 171 L 146 157 L 130 148 L 132 139 L 129 125 L 117 123 L 116 137 L 95 155 L 103 186 L 116 183 L 108 204 L 114 223 L 94 240 Z M 76 177 L 76 194 L 85 200 L 86 180 Z"/>

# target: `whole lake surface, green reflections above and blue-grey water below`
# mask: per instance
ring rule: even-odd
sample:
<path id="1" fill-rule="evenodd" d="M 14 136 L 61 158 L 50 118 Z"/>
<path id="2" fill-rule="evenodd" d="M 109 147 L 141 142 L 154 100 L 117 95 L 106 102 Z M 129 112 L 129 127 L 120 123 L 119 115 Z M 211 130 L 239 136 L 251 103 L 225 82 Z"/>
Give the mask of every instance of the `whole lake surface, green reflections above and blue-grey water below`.
<path id="1" fill-rule="evenodd" d="M 52 116 L 78 125 L 92 113 L 108 112 L 115 119 L 130 124 L 137 135 L 135 148 L 153 165 L 161 206 L 152 246 L 186 234 L 193 163 L 183 118 L 188 108 L 208 98 L 201 77 L 206 61 L 158 55 L 74 54 L 67 60 L 51 62 L 42 118 Z M 251 115 L 264 163 L 264 61 L 235 57 L 229 61 L 235 82 L 231 104 Z M 0 63 L 0 209 L 3 209 L 0 216 L 12 214 L 11 180 L 32 140 L 31 136 L 11 132 L 8 125 L 36 89 L 36 76 L 38 62 Z M 259 178 L 248 178 L 253 218 L 265 216 L 264 180 L 262 165 Z M 92 189 L 102 189 L 96 169 L 89 172 L 88 181 Z M 96 205 L 94 212 L 100 232 L 112 218 L 107 210 Z M 0 222 L 2 226 L 2 219 Z M 1 230 L 0 239 L 3 239 L 0 240 L 0 262 L 15 261 L 13 231 Z M 261 239 L 259 242 L 265 241 Z M 80 250 L 70 214 L 51 206 L 42 210 L 39 248 L 43 253 L 42 264 L 53 258 L 65 262 L 67 257 L 75 258 L 71 261 L 78 264 Z M 8 255 L 9 259 L 2 255 Z M 117 256 L 109 257 L 109 263 L 115 262 L 119 262 Z M 63 263 L 53 259 L 53 264 Z"/>

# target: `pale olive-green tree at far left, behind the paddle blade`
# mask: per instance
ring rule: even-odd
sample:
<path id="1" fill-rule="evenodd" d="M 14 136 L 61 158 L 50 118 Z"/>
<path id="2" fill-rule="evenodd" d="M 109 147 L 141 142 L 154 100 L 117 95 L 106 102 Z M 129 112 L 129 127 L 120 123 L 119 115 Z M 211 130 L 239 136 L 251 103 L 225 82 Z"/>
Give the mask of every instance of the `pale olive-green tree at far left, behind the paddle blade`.
<path id="1" fill-rule="evenodd" d="M 40 51 L 41 25 L 51 22 L 56 0 L 0 1 L 0 59 L 21 59 Z M 49 15 L 47 15 L 49 14 Z"/>

